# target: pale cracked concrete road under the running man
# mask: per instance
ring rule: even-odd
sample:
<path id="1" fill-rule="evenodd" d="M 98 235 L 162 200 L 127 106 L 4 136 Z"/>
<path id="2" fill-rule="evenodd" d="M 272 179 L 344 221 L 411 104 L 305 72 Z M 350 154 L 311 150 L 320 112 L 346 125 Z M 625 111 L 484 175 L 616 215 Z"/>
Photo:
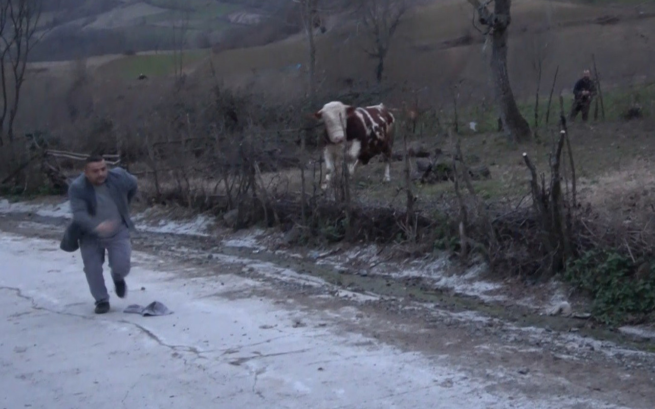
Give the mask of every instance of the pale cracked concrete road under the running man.
<path id="1" fill-rule="evenodd" d="M 79 253 L 0 232 L 0 260 L 0 408 L 627 407 L 577 389 L 522 393 L 496 365 L 476 376 L 402 351 L 344 330 L 357 308 L 301 308 L 238 274 L 135 251 L 127 298 L 105 272 L 112 310 L 95 315 Z M 173 313 L 122 311 L 154 300 Z"/>

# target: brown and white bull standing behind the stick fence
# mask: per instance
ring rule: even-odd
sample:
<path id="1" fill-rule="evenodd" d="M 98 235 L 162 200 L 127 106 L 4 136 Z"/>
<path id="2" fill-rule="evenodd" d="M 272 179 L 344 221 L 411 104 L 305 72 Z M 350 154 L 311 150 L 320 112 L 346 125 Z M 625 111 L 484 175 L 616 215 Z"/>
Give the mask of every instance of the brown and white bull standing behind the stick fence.
<path id="1" fill-rule="evenodd" d="M 386 168 L 384 181 L 391 180 L 390 164 L 394 144 L 395 118 L 382 103 L 370 107 L 353 107 L 340 101 L 326 103 L 314 116 L 325 125 L 323 150 L 326 162 L 326 179 L 322 188 L 327 188 L 338 156 L 346 147 L 348 174 L 352 175 L 358 163 L 368 164 L 371 158 L 384 154 Z"/>

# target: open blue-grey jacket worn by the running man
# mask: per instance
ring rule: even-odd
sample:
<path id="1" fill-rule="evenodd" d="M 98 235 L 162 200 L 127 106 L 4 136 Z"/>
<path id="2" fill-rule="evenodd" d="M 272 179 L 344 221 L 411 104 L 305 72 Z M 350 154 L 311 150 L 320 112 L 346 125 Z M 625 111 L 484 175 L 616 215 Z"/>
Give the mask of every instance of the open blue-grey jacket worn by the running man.
<path id="1" fill-rule="evenodd" d="M 128 228 L 133 229 L 134 222 L 130 218 L 129 206 L 137 190 L 136 177 L 123 168 L 114 168 L 107 171 L 105 183 L 121 213 L 123 222 Z M 91 217 L 96 214 L 96 192 L 84 173 L 71 182 L 68 188 L 68 200 L 71 203 L 73 221 L 64 232 L 60 248 L 72 252 L 79 248 L 79 240 L 82 236 L 95 234 L 96 226 L 92 224 Z"/>

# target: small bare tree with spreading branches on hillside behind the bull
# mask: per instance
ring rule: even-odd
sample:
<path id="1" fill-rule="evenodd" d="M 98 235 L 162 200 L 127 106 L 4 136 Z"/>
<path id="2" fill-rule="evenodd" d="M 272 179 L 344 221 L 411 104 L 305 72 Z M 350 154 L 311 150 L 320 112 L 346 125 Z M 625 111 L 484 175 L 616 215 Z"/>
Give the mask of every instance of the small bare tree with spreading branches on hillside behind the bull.
<path id="1" fill-rule="evenodd" d="M 360 0 L 358 6 L 356 12 L 365 28 L 364 51 L 377 60 L 375 79 L 380 84 L 384 60 L 409 3 L 407 0 Z"/>

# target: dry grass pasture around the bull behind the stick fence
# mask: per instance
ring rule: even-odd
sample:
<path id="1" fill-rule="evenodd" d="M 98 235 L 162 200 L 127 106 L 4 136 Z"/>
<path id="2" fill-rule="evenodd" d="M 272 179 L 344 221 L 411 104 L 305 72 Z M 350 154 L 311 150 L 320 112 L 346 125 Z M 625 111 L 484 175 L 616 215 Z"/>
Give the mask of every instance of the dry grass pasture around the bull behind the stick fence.
<path id="1" fill-rule="evenodd" d="M 655 156 L 655 145 L 650 143 L 648 122 L 572 124 L 569 128 L 572 151 L 576 166 L 578 198 L 594 208 L 607 209 L 619 219 L 635 217 L 635 211 L 648 213 L 651 199 L 655 199 L 655 173 L 650 170 Z M 553 132 L 554 133 L 554 132 Z M 411 137 L 410 143 L 421 143 L 428 150 L 450 150 L 443 138 Z M 516 205 L 529 192 L 529 171 L 522 153 L 528 152 L 539 172 L 548 174 L 548 158 L 551 152 L 548 141 L 524 145 L 509 143 L 504 135 L 483 133 L 462 137 L 464 154 L 477 156 L 481 164 L 489 167 L 492 179 L 474 181 L 479 196 L 490 204 Z M 394 151 L 402 153 L 398 144 Z M 310 152 L 314 159 L 320 152 Z M 565 169 L 569 169 L 568 164 Z M 390 183 L 383 183 L 384 163 L 379 158 L 366 166 L 359 166 L 352 179 L 352 195 L 364 205 L 403 209 L 405 195 L 402 188 L 403 162 L 392 162 Z M 320 183 L 320 169 L 316 171 L 316 183 Z M 305 172 L 307 191 L 312 189 L 312 166 Z M 264 185 L 280 192 L 298 194 L 301 190 L 299 169 L 263 174 Z M 569 187 L 571 180 L 569 179 Z M 428 213 L 451 206 L 454 200 L 453 184 L 413 185 L 418 196 L 417 207 Z M 219 191 L 223 192 L 222 187 Z M 648 194 L 646 194 L 648 192 Z M 621 200 L 619 200 L 621 199 Z M 649 202 L 650 200 L 650 202 Z M 523 204 L 529 204 L 529 199 Z"/>

